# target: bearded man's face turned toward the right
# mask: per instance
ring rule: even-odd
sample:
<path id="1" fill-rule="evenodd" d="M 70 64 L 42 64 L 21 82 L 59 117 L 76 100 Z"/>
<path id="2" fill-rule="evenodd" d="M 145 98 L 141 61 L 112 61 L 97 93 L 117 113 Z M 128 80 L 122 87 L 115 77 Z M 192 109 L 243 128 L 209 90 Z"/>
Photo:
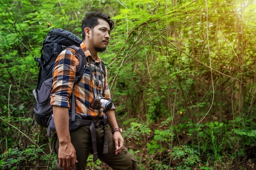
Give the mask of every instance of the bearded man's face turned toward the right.
<path id="1" fill-rule="evenodd" d="M 98 21 L 99 24 L 92 30 L 92 45 L 96 51 L 102 52 L 108 46 L 110 26 L 105 20 L 98 19 Z"/>

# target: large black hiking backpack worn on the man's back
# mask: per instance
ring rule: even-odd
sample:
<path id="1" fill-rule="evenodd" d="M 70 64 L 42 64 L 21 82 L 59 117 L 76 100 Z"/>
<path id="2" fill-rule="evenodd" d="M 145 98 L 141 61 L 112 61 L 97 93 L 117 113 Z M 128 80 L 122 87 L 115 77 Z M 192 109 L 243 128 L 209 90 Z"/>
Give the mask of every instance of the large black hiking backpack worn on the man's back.
<path id="1" fill-rule="evenodd" d="M 48 127 L 48 130 L 52 118 L 50 93 L 52 91 L 53 64 L 58 54 L 61 53 L 63 49 L 74 49 L 79 57 L 79 68 L 76 71 L 74 84 L 79 82 L 86 69 L 85 54 L 80 48 L 81 43 L 82 40 L 78 36 L 67 30 L 52 29 L 43 41 L 43 47 L 40 50 L 41 57 L 35 57 L 35 60 L 39 63 L 38 66 L 40 66 L 40 71 L 38 74 L 37 87 L 33 90 L 36 99 L 34 117 L 40 126 Z M 32 125 L 33 124 L 34 119 L 32 119 Z"/>

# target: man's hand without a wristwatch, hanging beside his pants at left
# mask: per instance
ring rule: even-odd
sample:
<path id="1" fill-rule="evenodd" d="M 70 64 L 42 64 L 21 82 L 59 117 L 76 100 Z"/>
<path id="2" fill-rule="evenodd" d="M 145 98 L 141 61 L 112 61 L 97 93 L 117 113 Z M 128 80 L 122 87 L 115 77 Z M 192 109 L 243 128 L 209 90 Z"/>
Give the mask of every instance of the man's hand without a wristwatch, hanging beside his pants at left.
<path id="1" fill-rule="evenodd" d="M 76 150 L 71 143 L 62 145 L 60 144 L 60 147 L 58 148 L 58 161 L 60 167 L 63 168 L 63 170 L 70 170 L 71 166 L 72 170 L 75 169 L 77 163 Z"/>

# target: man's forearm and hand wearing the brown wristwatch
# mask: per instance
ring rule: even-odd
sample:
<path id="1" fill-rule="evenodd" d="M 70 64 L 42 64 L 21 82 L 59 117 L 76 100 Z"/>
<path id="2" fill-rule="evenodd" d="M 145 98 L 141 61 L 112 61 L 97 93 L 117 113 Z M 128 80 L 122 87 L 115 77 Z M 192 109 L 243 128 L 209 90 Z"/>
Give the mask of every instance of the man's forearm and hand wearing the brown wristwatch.
<path id="1" fill-rule="evenodd" d="M 110 126 L 110 128 L 119 128 L 118 124 L 117 124 L 117 119 L 116 119 L 116 115 L 115 115 L 115 111 L 114 110 L 108 110 L 105 112 L 107 117 L 108 117 L 108 124 Z M 115 141 L 115 146 L 116 146 L 116 155 L 121 153 L 123 147 L 124 147 L 124 139 L 121 135 L 121 133 L 119 131 L 114 132 L 113 134 L 113 139 Z"/>

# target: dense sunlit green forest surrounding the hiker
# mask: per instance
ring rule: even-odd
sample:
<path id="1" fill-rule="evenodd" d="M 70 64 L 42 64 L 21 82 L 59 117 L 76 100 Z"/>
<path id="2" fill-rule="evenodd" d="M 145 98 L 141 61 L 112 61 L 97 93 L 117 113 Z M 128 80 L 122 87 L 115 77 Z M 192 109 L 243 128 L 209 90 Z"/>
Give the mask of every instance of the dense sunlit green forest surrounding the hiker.
<path id="1" fill-rule="evenodd" d="M 47 129 L 31 124 L 40 49 L 88 11 L 115 22 L 100 54 L 139 170 L 256 167 L 255 0 L 0 2 L 0 170 L 54 170 Z M 110 170 L 89 156 L 86 170 Z"/>

